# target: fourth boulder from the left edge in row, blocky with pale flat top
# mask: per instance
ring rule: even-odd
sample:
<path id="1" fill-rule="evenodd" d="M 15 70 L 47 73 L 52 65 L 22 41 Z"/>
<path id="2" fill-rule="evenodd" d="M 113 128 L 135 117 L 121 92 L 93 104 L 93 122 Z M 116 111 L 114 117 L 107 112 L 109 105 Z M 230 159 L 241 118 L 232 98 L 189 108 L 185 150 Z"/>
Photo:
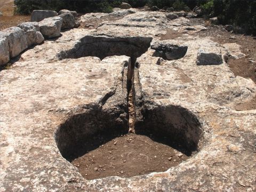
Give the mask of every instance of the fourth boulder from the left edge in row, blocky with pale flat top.
<path id="1" fill-rule="evenodd" d="M 40 32 L 44 38 L 54 38 L 60 36 L 60 30 L 62 25 L 61 17 L 46 18 L 39 22 Z"/>

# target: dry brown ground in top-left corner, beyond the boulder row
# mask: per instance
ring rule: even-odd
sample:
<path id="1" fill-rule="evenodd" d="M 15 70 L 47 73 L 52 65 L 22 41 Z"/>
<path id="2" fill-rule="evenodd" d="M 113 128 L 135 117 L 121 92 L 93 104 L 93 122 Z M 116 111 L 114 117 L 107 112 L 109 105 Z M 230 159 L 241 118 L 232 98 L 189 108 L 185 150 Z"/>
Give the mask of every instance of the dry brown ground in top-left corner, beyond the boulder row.
<path id="1" fill-rule="evenodd" d="M 0 0 L 0 11 L 3 16 L 0 16 L 0 30 L 15 27 L 22 22 L 30 21 L 29 15 L 14 15 L 13 0 Z"/>

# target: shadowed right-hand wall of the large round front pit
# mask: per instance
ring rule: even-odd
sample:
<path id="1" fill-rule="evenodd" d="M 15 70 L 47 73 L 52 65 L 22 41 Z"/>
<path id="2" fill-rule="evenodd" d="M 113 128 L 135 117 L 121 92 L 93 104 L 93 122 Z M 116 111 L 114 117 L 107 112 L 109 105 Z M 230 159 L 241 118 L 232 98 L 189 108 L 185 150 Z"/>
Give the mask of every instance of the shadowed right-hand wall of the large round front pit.
<path id="1" fill-rule="evenodd" d="M 142 108 L 143 121 L 135 123 L 135 133 L 146 135 L 187 156 L 196 153 L 203 133 L 197 117 L 180 106 L 153 106 Z"/>

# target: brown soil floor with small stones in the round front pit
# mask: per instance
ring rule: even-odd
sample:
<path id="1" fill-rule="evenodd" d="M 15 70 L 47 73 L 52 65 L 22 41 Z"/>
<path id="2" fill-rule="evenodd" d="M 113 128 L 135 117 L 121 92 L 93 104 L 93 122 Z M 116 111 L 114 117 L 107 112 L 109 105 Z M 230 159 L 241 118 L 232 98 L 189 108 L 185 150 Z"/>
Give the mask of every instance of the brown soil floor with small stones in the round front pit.
<path id="1" fill-rule="evenodd" d="M 162 172 L 186 161 L 188 156 L 144 135 L 117 137 L 71 162 L 85 179 Z"/>

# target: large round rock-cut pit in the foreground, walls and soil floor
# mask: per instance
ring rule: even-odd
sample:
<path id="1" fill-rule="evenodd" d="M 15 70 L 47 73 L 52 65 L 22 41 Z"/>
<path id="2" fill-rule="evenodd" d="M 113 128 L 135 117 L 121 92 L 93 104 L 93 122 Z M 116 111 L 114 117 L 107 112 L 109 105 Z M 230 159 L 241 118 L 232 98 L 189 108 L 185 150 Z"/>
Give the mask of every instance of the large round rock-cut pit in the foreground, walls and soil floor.
<path id="1" fill-rule="evenodd" d="M 118 113 L 98 107 L 70 116 L 55 132 L 61 155 L 91 180 L 166 171 L 197 150 L 201 124 L 193 114 L 175 107 L 144 112 L 139 134 L 128 133 Z"/>

